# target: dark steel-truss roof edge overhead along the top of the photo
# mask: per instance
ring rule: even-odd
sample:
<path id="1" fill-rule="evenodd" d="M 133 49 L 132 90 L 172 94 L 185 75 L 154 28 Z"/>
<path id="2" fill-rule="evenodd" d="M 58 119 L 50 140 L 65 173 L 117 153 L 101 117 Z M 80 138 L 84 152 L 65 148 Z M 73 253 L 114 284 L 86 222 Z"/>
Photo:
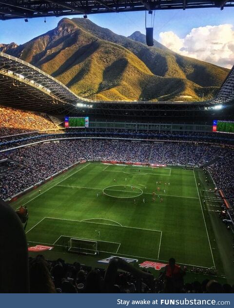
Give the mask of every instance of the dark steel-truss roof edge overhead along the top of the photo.
<path id="1" fill-rule="evenodd" d="M 231 6 L 227 0 L 0 0 L 0 19 Z"/>

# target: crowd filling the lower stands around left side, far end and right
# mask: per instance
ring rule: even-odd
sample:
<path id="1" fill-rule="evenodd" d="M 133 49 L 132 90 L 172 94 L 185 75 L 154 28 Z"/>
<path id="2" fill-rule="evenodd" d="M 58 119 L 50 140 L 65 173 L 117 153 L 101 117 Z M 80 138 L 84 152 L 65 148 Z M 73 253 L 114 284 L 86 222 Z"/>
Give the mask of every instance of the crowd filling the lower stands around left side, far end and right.
<path id="1" fill-rule="evenodd" d="M 218 188 L 223 188 L 228 197 L 233 198 L 233 150 L 176 142 L 154 143 L 110 139 L 43 142 L 0 153 L 0 161 L 7 159 L 13 163 L 13 167 L 0 168 L 0 197 L 10 198 L 80 160 L 201 165 L 201 162 L 213 161 L 215 157 L 218 157 L 218 160 L 209 167 L 209 170 Z"/>

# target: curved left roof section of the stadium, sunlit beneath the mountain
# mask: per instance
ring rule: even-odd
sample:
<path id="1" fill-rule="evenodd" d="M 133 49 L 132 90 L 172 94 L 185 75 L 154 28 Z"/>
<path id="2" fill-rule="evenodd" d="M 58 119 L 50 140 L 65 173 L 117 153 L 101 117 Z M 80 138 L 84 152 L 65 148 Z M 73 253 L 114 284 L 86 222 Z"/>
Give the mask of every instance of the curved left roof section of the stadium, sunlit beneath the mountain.
<path id="1" fill-rule="evenodd" d="M 64 105 L 77 106 L 85 100 L 36 66 L 0 52 L 0 103 L 35 110 L 43 105 L 48 110 Z M 87 107 L 92 107 L 88 103 Z"/>

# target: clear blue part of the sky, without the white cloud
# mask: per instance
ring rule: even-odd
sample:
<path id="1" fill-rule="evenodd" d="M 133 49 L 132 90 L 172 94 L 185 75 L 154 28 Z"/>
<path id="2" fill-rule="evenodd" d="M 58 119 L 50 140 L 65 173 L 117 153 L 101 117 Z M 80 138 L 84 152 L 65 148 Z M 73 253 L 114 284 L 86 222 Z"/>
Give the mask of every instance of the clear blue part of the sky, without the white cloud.
<path id="1" fill-rule="evenodd" d="M 81 17 L 81 16 L 74 16 Z M 89 15 L 88 18 L 102 27 L 106 27 L 117 34 L 128 36 L 134 31 L 145 32 L 145 12 L 109 13 Z M 23 19 L 0 21 L 0 43 L 23 44 L 32 38 L 56 27 L 62 17 Z M 71 17 L 70 17 L 71 18 Z M 185 37 L 192 28 L 234 24 L 234 8 L 188 9 L 156 11 L 154 37 L 159 39 L 160 32 L 173 31 L 179 37 Z"/>

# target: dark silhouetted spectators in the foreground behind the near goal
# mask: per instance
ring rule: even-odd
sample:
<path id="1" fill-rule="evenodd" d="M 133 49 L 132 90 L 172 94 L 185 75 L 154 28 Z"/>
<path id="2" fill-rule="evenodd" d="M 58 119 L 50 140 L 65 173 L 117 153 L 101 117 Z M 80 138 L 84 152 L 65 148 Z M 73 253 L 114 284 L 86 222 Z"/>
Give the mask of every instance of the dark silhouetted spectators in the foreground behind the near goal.
<path id="1" fill-rule="evenodd" d="M 175 260 L 175 259 L 170 259 Z M 233 293 L 234 286 L 221 285 L 214 280 L 205 279 L 202 282 L 184 283 L 186 267 L 174 265 L 176 270 L 169 274 L 167 268 L 162 268 L 153 281 L 141 278 L 142 293 Z M 170 267 L 169 267 L 170 268 Z M 193 269 L 192 269 L 193 270 Z M 191 270 L 191 271 L 192 271 Z M 195 270 L 195 269 L 194 269 Z M 144 270 L 150 273 L 149 270 Z M 105 273 L 103 268 L 92 269 L 75 262 L 68 264 L 62 259 L 46 260 L 42 255 L 29 258 L 29 278 L 31 293 L 102 293 L 105 292 Z M 211 274 L 211 273 L 208 273 Z M 137 278 L 130 272 L 117 271 L 112 293 L 136 293 L 139 288 Z"/>

